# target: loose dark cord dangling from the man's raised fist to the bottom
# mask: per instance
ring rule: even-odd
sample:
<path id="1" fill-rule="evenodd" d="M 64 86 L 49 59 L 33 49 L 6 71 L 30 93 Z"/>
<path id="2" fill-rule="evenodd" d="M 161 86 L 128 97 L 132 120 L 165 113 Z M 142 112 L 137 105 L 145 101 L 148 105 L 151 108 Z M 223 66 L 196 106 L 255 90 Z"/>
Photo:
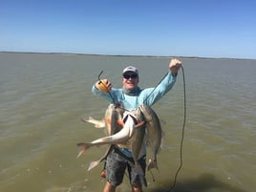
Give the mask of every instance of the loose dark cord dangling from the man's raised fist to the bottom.
<path id="1" fill-rule="evenodd" d="M 183 67 L 181 65 L 181 70 L 182 70 L 182 76 L 183 76 L 183 93 L 184 93 L 184 119 L 183 119 L 183 125 L 182 125 L 182 134 L 181 134 L 181 148 L 180 148 L 180 166 L 175 174 L 175 177 L 174 177 L 174 182 L 173 182 L 173 185 L 170 189 L 170 192 L 175 188 L 175 185 L 176 185 L 176 182 L 177 182 L 177 177 L 178 177 L 178 174 L 179 172 L 181 171 L 181 167 L 182 167 L 182 146 L 183 146 L 183 139 L 184 139 L 184 130 L 185 130 L 185 121 L 186 121 L 186 92 L 185 92 L 185 75 L 184 75 L 184 70 L 183 70 Z"/>

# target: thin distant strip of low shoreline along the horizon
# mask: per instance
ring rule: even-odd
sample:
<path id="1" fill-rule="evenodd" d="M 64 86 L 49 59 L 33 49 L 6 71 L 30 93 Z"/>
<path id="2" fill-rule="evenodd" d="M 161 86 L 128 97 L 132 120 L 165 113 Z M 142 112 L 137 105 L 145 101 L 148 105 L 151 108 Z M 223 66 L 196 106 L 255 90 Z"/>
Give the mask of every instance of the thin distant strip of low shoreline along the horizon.
<path id="1" fill-rule="evenodd" d="M 232 57 L 201 57 L 201 56 L 178 56 L 178 55 L 146 55 L 146 54 L 100 54 L 100 53 L 47 53 L 47 52 L 9 52 L 0 51 L 0 53 L 30 53 L 30 54 L 60 54 L 60 55 L 90 55 L 90 56 L 131 56 L 131 57 L 150 57 L 150 58 L 189 58 L 189 59 L 234 59 L 234 60 L 256 60 L 253 58 L 232 58 Z"/>

